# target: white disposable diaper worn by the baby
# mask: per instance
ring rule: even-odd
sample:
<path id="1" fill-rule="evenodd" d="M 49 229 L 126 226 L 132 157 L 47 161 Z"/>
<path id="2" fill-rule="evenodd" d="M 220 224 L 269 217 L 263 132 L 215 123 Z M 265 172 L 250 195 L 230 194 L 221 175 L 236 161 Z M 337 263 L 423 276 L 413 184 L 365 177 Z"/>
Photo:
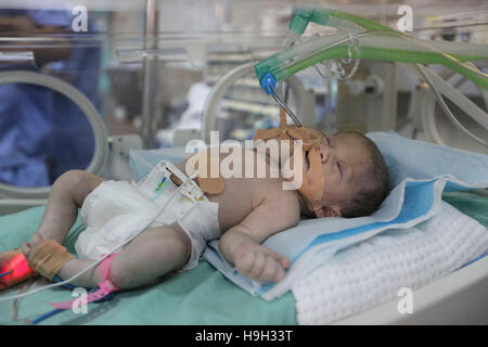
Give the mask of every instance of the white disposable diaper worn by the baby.
<path id="1" fill-rule="evenodd" d="M 171 198 L 178 187 L 166 168 L 184 176 L 171 163 L 162 160 L 139 183 L 105 181 L 85 198 L 80 217 L 87 229 L 75 244 L 80 258 L 98 260 L 145 228 L 178 222 L 192 245 L 183 270 L 198 265 L 207 242 L 220 236 L 219 204 L 208 201 L 197 185 L 200 201 L 194 200 L 195 194 L 185 196 L 182 190 Z M 151 222 L 169 198 L 164 213 Z"/>

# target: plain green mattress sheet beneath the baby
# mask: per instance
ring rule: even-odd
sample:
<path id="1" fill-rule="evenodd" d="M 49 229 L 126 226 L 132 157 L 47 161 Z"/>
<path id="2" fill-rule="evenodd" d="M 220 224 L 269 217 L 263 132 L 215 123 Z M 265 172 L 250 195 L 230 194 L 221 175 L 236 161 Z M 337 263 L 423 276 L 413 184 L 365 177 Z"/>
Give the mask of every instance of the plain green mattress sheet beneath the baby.
<path id="1" fill-rule="evenodd" d="M 444 193 L 442 200 L 488 228 L 488 197 L 468 192 Z M 0 217 L 0 250 L 18 247 L 39 224 L 44 207 L 30 208 Z M 65 246 L 74 253 L 77 234 L 84 230 L 78 219 Z M 37 280 L 30 288 L 44 285 Z M 25 284 L 0 294 L 14 295 Z M 0 324 L 25 324 L 52 310 L 48 303 L 74 298 L 64 287 L 47 290 L 17 303 L 17 318 L 12 320 L 13 301 L 0 303 Z M 169 274 L 160 282 L 140 290 L 120 292 L 105 303 L 89 304 L 88 313 L 70 310 L 53 316 L 41 324 L 296 324 L 292 293 L 272 301 L 254 297 L 227 280 L 208 262 L 195 269 Z"/>

